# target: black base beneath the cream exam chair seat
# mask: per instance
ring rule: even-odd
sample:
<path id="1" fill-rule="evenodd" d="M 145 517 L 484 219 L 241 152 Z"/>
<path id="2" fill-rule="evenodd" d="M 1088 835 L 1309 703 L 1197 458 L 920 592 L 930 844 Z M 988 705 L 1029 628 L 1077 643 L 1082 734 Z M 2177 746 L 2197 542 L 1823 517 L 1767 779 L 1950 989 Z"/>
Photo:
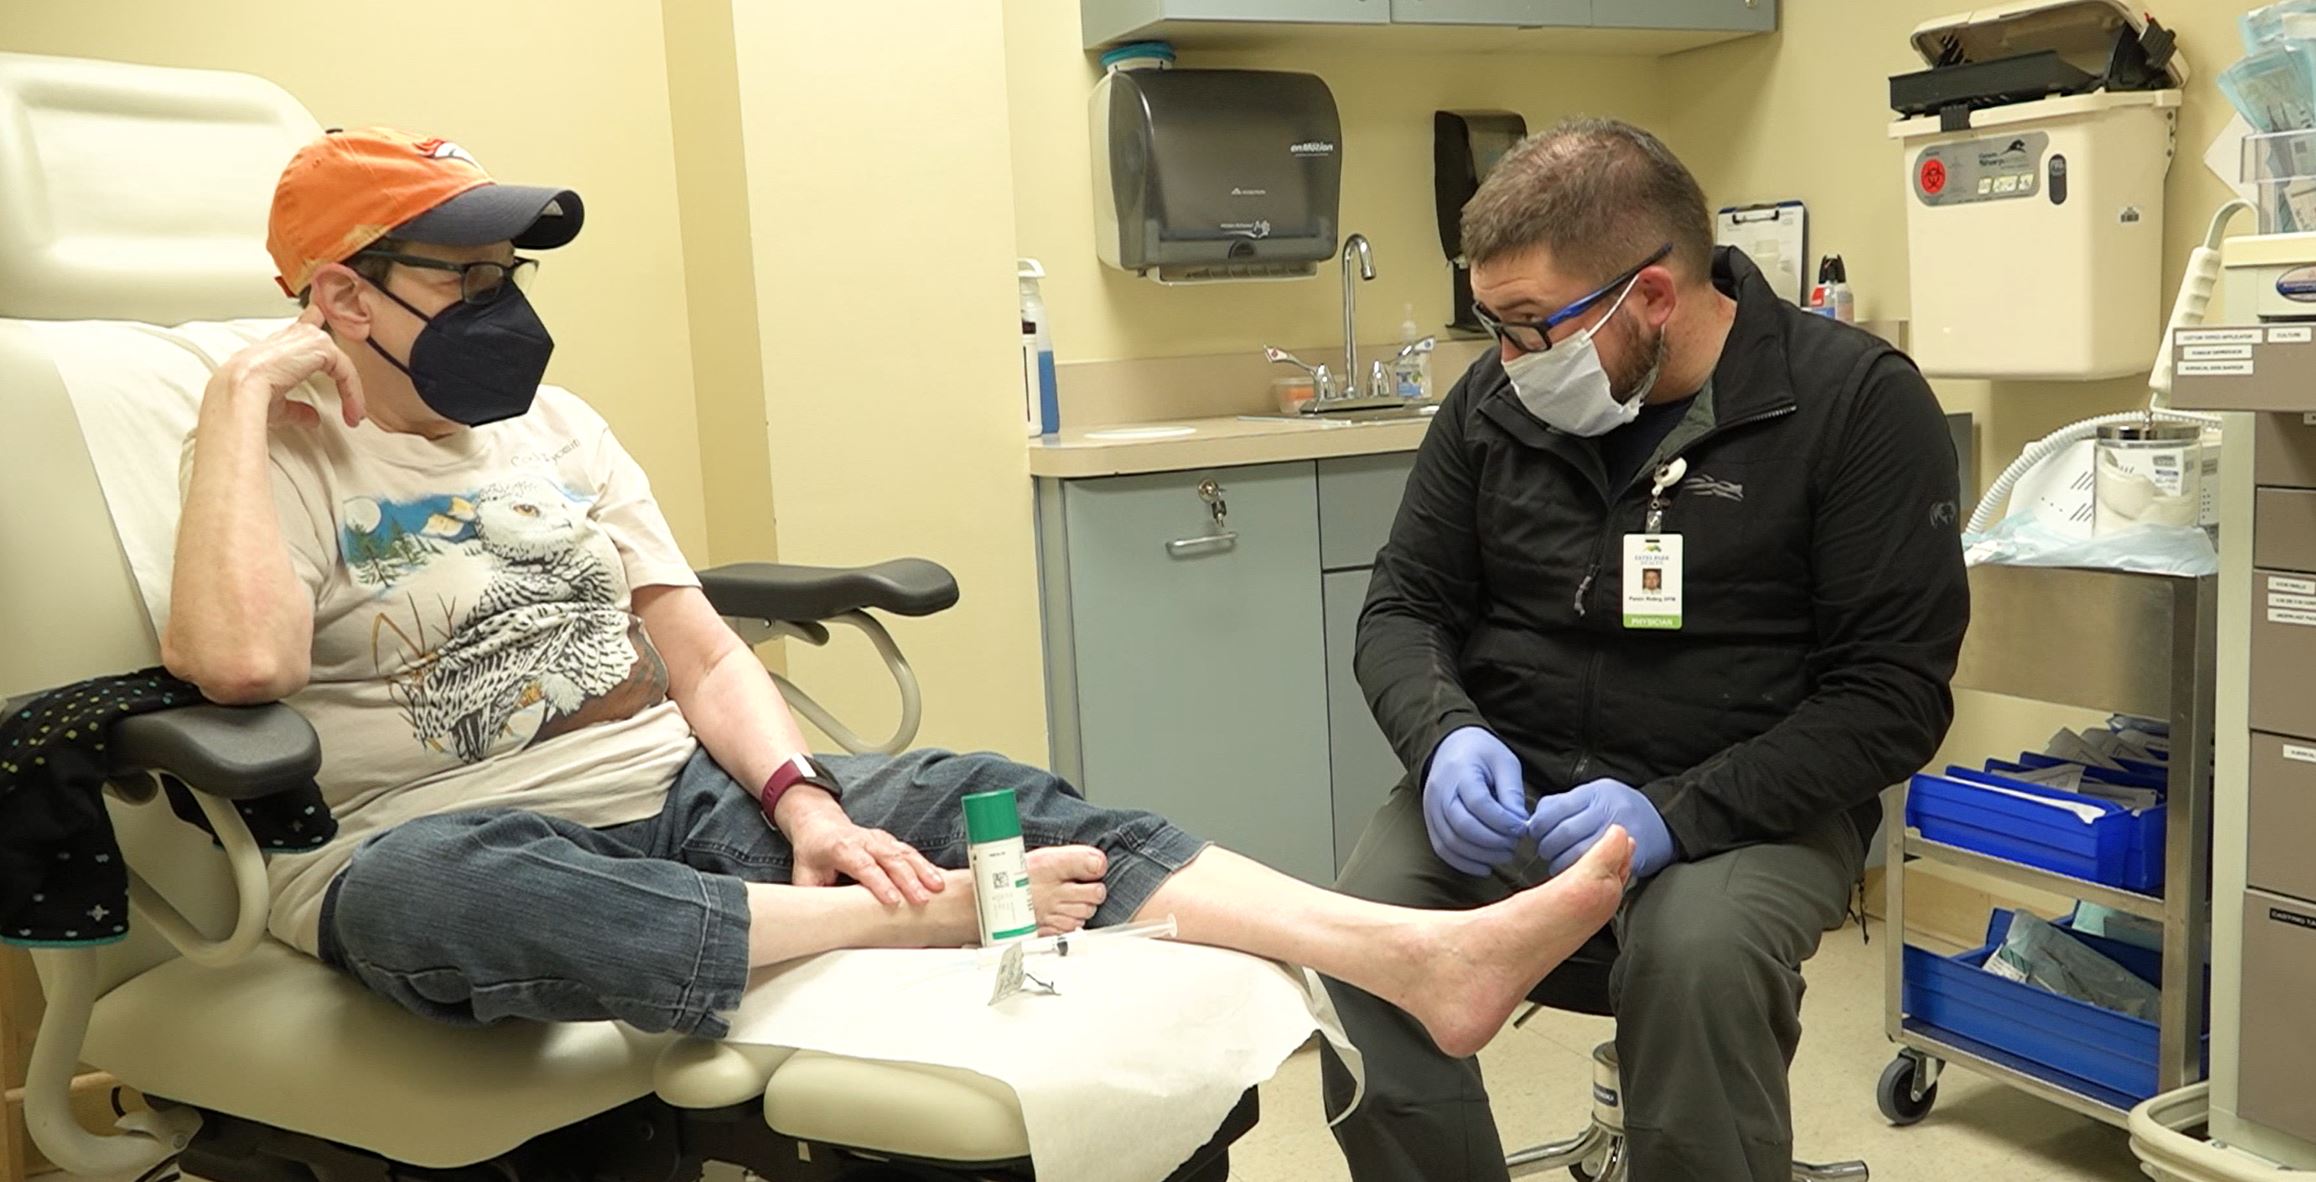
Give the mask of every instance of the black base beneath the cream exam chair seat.
<path id="1" fill-rule="evenodd" d="M 167 1103 L 167 1101 L 162 1101 Z M 1225 1182 L 1230 1145 L 1260 1119 L 1248 1089 L 1197 1154 L 1167 1182 Z M 697 1182 L 725 1161 L 767 1182 L 1035 1182 L 1019 1161 L 913 1161 L 776 1133 L 762 1103 L 683 1110 L 653 1096 L 567 1129 L 537 1136 L 491 1161 L 415 1168 L 331 1140 L 222 1112 L 201 1112 L 201 1131 L 178 1166 L 201 1182 Z"/>

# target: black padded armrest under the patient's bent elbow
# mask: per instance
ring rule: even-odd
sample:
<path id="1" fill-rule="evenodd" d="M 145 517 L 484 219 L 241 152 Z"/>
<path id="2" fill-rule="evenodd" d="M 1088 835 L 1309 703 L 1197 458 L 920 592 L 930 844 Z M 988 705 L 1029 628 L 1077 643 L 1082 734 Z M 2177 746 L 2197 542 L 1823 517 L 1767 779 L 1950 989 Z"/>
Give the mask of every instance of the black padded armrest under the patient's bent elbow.
<path id="1" fill-rule="evenodd" d="M 322 769 L 322 739 L 285 705 L 160 709 L 120 718 L 107 744 L 113 772 L 167 772 L 234 802 L 310 786 Z"/>

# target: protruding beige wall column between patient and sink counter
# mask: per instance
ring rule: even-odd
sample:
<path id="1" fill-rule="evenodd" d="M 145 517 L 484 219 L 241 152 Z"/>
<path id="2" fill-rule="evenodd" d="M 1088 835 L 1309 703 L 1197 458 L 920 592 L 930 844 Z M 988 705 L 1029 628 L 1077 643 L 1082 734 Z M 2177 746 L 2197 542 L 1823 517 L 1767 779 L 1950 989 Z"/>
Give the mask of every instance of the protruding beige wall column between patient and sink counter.
<path id="1" fill-rule="evenodd" d="M 1042 763 L 996 12 L 739 2 L 732 25 L 780 559 L 950 566 L 963 603 L 894 626 L 924 742 Z M 787 661 L 855 728 L 892 718 L 857 640 Z"/>

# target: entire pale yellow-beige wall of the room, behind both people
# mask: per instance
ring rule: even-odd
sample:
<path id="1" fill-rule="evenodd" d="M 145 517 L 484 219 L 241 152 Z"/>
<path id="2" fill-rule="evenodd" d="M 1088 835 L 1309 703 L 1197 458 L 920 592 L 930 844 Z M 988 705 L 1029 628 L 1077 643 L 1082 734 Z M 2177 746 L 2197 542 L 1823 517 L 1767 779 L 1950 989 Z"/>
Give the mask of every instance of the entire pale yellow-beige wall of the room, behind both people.
<path id="1" fill-rule="evenodd" d="M 973 5 L 567 5 L 373 0 L 285 21 L 280 5 L 7 0 L 0 49 L 266 74 L 324 123 L 461 139 L 493 172 L 588 197 L 588 232 L 540 290 L 551 378 L 614 422 L 695 561 L 850 563 L 924 554 L 963 603 L 899 633 L 926 742 L 1042 760 L 1035 559 L 1017 429 L 1012 257 L 1045 260 L 1065 362 L 1253 350 L 1339 336 L 1336 271 L 1304 283 L 1158 287 L 1093 257 L 1075 0 Z M 1658 127 L 1716 204 L 1802 197 L 1811 250 L 1850 262 L 1867 318 L 1904 318 L 1899 148 L 1885 76 L 1950 0 L 1786 0 L 1783 30 L 1672 58 L 1485 56 L 1346 46 L 1186 53 L 1186 65 L 1311 70 L 1346 123 L 1343 227 L 1376 248 L 1359 336 L 1401 308 L 1438 324 L 1429 114 L 1503 107 L 1540 127 L 1614 114 Z M 2168 283 L 2223 199 L 2200 165 L 2226 121 L 2209 79 L 2237 2 L 2168 5 L 2198 65 L 2168 206 Z M 894 28 L 908 25 L 908 37 Z M 380 30 L 461 28 L 475 56 Z M 679 229 L 681 227 L 681 229 Z M 2026 440 L 2131 406 L 2131 380 L 1941 382 L 1980 417 L 1992 475 Z M 778 505 L 778 519 L 774 519 Z M 792 651 L 862 728 L 889 686 L 857 642 Z M 1966 700 L 1955 746 L 1996 735 Z"/>

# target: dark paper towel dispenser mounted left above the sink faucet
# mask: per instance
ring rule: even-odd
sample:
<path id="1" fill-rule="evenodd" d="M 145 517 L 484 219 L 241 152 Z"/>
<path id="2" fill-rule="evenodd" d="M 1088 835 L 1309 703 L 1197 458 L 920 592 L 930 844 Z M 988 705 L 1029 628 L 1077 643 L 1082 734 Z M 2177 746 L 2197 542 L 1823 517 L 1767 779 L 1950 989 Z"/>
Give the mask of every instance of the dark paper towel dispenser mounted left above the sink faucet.
<path id="1" fill-rule="evenodd" d="M 1315 74 L 1114 67 L 1091 123 L 1109 267 L 1195 283 L 1304 278 L 1334 257 L 1343 121 Z"/>

